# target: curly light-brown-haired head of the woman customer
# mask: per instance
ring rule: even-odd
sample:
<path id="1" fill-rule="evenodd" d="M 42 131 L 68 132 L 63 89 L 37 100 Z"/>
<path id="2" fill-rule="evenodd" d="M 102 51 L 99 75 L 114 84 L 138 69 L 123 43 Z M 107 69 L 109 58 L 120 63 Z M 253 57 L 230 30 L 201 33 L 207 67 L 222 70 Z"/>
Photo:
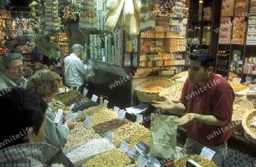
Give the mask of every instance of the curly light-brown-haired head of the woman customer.
<path id="1" fill-rule="evenodd" d="M 26 89 L 38 93 L 46 99 L 46 102 L 51 102 L 56 93 L 59 92 L 60 87 L 62 87 L 62 82 L 56 72 L 41 70 L 30 77 Z"/>

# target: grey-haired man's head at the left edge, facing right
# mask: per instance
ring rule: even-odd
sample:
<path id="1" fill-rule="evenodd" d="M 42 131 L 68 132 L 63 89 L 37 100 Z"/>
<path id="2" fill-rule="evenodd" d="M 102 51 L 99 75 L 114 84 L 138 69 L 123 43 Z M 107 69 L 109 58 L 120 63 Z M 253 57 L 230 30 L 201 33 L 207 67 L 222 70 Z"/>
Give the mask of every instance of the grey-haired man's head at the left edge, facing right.
<path id="1" fill-rule="evenodd" d="M 19 53 L 7 53 L 0 62 L 0 68 L 12 80 L 23 77 L 23 57 Z"/>

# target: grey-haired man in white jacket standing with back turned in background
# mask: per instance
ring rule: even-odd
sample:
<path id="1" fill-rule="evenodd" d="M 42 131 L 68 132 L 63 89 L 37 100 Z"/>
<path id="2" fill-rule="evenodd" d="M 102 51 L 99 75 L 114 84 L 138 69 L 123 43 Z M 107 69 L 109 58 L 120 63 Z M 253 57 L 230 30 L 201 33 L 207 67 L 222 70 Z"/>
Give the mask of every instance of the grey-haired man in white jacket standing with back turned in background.
<path id="1" fill-rule="evenodd" d="M 72 53 L 65 60 L 65 84 L 73 90 L 82 93 L 84 91 L 84 75 L 92 72 L 92 66 L 85 65 L 81 60 L 82 46 L 72 46 Z"/>

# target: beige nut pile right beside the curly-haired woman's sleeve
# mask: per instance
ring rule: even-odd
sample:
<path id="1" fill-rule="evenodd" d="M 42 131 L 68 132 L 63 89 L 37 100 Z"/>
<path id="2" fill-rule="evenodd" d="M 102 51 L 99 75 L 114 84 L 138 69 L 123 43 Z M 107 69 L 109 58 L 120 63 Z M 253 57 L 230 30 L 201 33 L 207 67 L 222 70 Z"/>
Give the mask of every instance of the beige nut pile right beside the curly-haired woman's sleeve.
<path id="1" fill-rule="evenodd" d="M 74 147 L 78 144 L 89 142 L 92 139 L 99 139 L 101 136 L 97 134 L 91 127 L 86 129 L 84 122 L 77 122 L 74 129 L 69 131 L 68 142 L 63 149 Z"/>

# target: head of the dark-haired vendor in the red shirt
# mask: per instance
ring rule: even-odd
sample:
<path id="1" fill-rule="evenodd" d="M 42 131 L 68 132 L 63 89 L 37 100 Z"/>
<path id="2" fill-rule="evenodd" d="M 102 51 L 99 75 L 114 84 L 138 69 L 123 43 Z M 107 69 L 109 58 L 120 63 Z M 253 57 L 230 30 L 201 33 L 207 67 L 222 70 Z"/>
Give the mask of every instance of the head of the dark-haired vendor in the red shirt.
<path id="1" fill-rule="evenodd" d="M 192 83 L 205 83 L 213 70 L 213 55 L 200 49 L 188 55 L 188 75 Z"/>

